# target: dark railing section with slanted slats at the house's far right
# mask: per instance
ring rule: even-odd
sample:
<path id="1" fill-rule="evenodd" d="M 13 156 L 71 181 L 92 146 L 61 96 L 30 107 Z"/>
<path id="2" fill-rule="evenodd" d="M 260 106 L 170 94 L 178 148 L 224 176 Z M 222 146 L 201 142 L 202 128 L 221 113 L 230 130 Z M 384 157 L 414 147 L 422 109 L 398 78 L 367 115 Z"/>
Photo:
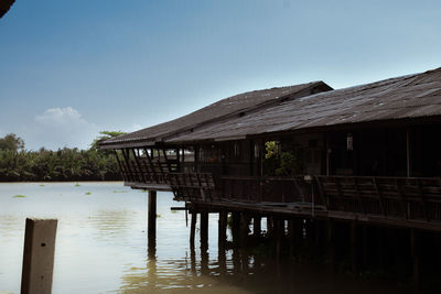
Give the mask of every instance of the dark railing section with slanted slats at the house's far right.
<path id="1" fill-rule="evenodd" d="M 441 178 L 318 176 L 329 210 L 441 221 Z"/>

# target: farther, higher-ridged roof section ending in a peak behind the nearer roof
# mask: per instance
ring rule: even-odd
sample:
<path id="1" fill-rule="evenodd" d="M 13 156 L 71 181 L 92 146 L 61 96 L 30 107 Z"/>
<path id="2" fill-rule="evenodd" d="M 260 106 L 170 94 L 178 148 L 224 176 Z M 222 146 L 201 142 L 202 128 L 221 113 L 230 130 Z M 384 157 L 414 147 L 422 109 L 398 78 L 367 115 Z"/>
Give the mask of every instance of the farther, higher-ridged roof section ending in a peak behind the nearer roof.
<path id="1" fill-rule="evenodd" d="M 184 117 L 132 133 L 122 134 L 99 144 L 101 148 L 151 145 L 166 138 L 193 131 L 206 123 L 233 119 L 245 116 L 247 111 L 327 90 L 332 90 L 332 88 L 323 81 L 313 81 L 295 86 L 248 91 L 222 99 Z"/>

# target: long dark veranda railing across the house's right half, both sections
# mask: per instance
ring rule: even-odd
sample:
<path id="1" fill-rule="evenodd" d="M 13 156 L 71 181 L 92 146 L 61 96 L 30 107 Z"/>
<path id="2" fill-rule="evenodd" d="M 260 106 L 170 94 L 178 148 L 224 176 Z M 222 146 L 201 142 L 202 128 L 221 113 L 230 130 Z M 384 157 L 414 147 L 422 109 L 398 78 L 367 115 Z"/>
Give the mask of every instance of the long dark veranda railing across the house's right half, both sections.
<path id="1" fill-rule="evenodd" d="M 303 176 L 223 177 L 225 200 L 303 203 L 325 211 L 441 221 L 441 178 Z"/>

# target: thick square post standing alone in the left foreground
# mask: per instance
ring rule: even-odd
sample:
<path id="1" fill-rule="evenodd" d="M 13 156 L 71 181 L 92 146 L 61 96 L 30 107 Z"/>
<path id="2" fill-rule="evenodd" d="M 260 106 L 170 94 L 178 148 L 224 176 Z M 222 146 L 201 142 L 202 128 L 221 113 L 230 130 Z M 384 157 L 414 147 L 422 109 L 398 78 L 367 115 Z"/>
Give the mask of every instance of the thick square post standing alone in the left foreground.
<path id="1" fill-rule="evenodd" d="M 51 293 L 56 219 L 26 219 L 21 293 Z"/>

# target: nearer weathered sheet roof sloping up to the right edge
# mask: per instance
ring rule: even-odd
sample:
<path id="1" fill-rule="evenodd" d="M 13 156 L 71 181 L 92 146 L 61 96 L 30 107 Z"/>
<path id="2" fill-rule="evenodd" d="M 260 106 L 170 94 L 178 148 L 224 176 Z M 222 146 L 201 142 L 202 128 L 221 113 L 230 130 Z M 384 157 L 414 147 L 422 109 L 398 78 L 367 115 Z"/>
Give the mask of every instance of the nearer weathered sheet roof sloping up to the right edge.
<path id="1" fill-rule="evenodd" d="M 441 67 L 422 74 L 320 92 L 209 123 L 168 142 L 228 140 L 338 124 L 441 116 Z"/>

